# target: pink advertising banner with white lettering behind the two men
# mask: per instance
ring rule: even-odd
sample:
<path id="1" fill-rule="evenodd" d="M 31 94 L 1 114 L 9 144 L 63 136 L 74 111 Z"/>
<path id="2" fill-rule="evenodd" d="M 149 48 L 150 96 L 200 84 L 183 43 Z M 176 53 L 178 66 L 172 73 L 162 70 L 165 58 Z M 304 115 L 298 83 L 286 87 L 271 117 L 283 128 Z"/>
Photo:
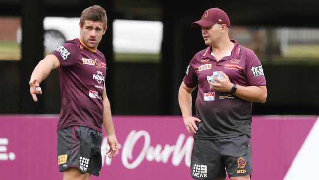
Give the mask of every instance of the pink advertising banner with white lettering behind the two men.
<path id="1" fill-rule="evenodd" d="M 255 116 L 253 177 L 282 180 L 317 116 Z M 61 180 L 56 153 L 57 115 L 0 116 L 1 180 Z M 192 180 L 193 138 L 180 116 L 113 116 L 119 154 L 106 157 L 92 180 Z"/>

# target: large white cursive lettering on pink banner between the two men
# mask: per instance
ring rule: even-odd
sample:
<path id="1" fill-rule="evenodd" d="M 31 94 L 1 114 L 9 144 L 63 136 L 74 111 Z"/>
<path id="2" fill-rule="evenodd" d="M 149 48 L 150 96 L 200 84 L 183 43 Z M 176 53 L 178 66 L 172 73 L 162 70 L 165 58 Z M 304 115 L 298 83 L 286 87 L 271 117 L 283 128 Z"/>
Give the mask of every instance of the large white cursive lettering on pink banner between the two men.
<path id="1" fill-rule="evenodd" d="M 155 144 L 155 146 L 151 146 L 151 139 L 150 134 L 145 130 L 132 130 L 126 137 L 123 147 L 118 144 L 118 148 L 122 149 L 121 161 L 124 167 L 135 169 L 145 161 L 166 164 L 168 160 L 171 160 L 174 166 L 179 166 L 183 159 L 185 165 L 190 167 L 193 137 L 189 136 L 185 140 L 185 134 L 180 134 L 174 145 Z M 104 137 L 101 145 L 102 166 L 104 163 L 110 166 L 112 162 L 112 159 L 107 158 L 107 150 L 109 145 L 107 137 Z"/>

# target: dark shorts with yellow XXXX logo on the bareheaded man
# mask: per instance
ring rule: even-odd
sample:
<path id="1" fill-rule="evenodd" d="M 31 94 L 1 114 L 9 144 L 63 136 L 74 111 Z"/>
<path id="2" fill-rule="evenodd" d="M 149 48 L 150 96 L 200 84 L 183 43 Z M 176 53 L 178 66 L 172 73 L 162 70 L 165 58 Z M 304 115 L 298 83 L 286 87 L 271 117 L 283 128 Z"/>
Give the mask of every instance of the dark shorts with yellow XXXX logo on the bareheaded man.
<path id="1" fill-rule="evenodd" d="M 59 171 L 69 167 L 81 173 L 99 176 L 102 167 L 102 133 L 84 126 L 71 126 L 57 131 Z"/>

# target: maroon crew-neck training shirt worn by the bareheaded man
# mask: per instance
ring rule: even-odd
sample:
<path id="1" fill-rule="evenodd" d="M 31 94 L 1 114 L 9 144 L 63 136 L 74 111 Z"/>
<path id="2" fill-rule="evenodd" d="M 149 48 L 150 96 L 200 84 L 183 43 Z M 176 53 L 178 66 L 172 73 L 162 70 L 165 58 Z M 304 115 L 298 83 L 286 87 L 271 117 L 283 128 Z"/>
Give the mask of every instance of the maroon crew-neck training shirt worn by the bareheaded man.
<path id="1" fill-rule="evenodd" d="M 67 41 L 52 54 L 60 62 L 62 108 L 57 130 L 76 125 L 102 132 L 104 55 L 86 48 L 79 39 Z"/>

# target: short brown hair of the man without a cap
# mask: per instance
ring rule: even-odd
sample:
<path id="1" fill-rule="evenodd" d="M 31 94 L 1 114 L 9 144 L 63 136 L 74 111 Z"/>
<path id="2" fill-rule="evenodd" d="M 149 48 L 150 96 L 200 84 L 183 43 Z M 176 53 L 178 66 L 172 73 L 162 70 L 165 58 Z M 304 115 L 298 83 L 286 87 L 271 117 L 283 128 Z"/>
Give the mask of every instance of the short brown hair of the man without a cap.
<path id="1" fill-rule="evenodd" d="M 94 5 L 83 10 L 80 18 L 82 26 L 84 25 L 85 20 L 102 21 L 103 25 L 107 26 L 106 12 L 103 7 L 99 5 Z"/>

